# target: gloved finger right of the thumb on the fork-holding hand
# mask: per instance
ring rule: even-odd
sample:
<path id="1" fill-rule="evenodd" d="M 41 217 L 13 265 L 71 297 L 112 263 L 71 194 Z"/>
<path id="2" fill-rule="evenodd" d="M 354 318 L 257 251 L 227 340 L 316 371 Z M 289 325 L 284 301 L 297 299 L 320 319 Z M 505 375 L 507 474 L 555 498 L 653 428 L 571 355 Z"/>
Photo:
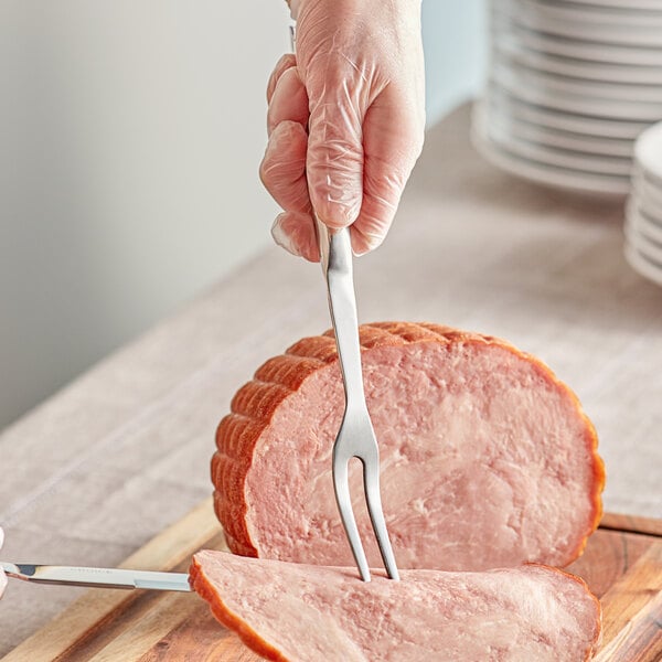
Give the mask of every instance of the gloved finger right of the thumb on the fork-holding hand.
<path id="1" fill-rule="evenodd" d="M 351 227 L 356 255 L 373 250 L 384 241 L 420 154 L 424 125 L 395 89 L 375 99 L 365 114 L 363 199 Z"/>

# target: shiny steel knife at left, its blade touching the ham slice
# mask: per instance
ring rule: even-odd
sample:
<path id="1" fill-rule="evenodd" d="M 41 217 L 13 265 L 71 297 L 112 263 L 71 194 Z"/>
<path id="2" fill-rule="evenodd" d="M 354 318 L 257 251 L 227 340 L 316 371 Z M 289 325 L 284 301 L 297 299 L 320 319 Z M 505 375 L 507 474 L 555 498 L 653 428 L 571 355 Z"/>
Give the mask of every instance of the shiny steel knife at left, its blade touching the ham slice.
<path id="1" fill-rule="evenodd" d="M 153 590 L 190 591 L 186 573 L 156 573 L 120 568 L 87 568 L 14 564 L 0 560 L 8 577 L 35 584 L 66 584 L 93 588 L 148 588 Z"/>

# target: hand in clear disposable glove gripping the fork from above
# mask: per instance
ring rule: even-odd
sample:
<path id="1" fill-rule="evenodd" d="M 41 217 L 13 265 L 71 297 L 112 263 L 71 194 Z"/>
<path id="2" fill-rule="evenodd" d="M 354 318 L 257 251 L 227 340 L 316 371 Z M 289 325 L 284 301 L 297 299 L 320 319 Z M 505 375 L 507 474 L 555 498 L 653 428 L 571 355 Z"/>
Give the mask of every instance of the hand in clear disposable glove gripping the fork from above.
<path id="1" fill-rule="evenodd" d="M 271 234 L 318 260 L 314 207 L 330 228 L 351 225 L 361 255 L 384 239 L 423 147 L 420 0 L 297 4 L 296 56 L 267 88 L 260 177 L 285 210 Z"/>

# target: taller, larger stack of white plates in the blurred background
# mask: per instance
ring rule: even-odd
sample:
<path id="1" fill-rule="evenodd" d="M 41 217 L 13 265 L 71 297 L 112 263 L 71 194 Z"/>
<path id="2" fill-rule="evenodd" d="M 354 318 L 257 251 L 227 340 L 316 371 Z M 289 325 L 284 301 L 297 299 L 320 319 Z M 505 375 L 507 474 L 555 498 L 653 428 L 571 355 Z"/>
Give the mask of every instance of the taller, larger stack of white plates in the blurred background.
<path id="1" fill-rule="evenodd" d="M 632 147 L 662 119 L 662 0 L 492 0 L 473 138 L 544 184 L 626 195 Z"/>

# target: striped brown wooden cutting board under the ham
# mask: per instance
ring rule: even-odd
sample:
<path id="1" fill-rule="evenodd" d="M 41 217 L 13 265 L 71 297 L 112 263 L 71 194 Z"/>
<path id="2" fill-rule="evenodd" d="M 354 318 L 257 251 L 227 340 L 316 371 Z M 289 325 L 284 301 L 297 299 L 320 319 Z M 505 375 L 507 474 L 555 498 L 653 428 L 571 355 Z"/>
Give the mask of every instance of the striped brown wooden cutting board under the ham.
<path id="1" fill-rule="evenodd" d="M 201 547 L 225 549 L 211 500 L 159 534 L 122 567 L 186 570 Z M 662 660 L 662 520 L 606 515 L 570 572 L 604 610 L 599 662 Z M 44 599 L 47 588 L 44 587 Z M 256 662 L 195 594 L 86 590 L 3 662 L 172 660 Z"/>

